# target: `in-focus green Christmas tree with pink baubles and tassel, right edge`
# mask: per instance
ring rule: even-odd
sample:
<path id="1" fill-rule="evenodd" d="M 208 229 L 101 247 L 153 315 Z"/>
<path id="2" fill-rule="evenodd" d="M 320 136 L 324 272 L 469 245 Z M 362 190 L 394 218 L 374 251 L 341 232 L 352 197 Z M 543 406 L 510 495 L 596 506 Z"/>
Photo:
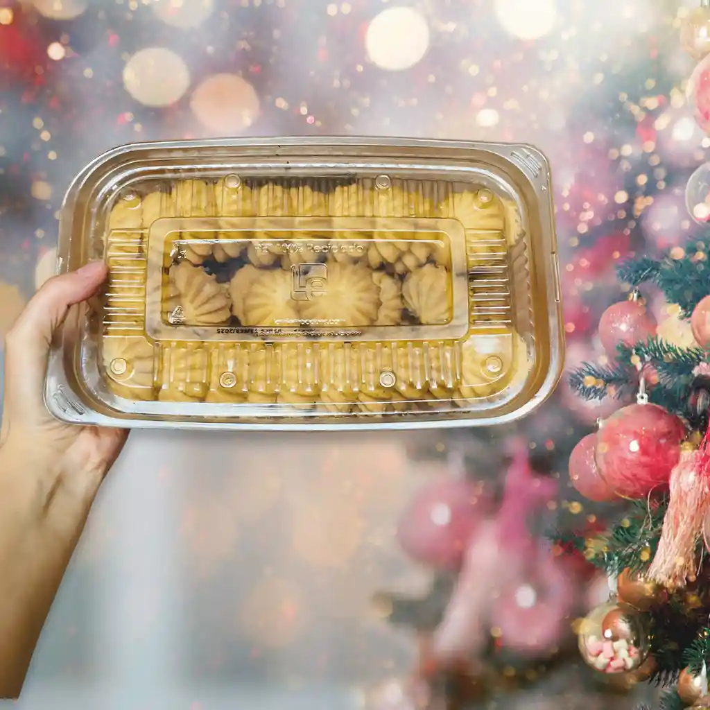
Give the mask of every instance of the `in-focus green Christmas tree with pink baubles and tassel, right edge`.
<path id="1" fill-rule="evenodd" d="M 606 616 L 581 622 L 580 648 L 597 670 L 643 669 L 667 686 L 661 710 L 710 707 L 709 253 L 709 239 L 694 239 L 660 259 L 622 263 L 629 298 L 599 325 L 607 359 L 570 377 L 587 400 L 636 397 L 582 439 L 569 462 L 582 495 L 633 501 L 602 535 L 572 540 L 618 584 Z M 658 336 L 643 300 L 654 288 L 677 306 L 697 345 Z"/>

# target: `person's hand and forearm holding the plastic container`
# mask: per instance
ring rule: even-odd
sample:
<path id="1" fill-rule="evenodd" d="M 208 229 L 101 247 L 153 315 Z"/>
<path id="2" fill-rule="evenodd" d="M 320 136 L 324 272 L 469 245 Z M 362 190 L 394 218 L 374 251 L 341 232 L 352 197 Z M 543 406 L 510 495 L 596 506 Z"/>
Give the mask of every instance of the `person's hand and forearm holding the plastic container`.
<path id="1" fill-rule="evenodd" d="M 104 263 L 50 279 L 6 336 L 0 428 L 0 697 L 16 697 L 89 509 L 127 430 L 50 415 L 50 345 L 72 306 L 96 293 Z"/>

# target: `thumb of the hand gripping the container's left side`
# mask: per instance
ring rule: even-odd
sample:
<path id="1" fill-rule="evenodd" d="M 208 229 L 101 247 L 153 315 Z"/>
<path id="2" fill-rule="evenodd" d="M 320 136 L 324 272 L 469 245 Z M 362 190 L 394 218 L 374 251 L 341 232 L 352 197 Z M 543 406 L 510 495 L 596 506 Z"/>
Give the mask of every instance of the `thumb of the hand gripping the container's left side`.
<path id="1" fill-rule="evenodd" d="M 50 278 L 35 293 L 6 335 L 6 387 L 17 383 L 25 392 L 27 386 L 41 390 L 55 333 L 70 307 L 96 293 L 106 277 L 107 266 L 93 261 L 72 273 Z"/>

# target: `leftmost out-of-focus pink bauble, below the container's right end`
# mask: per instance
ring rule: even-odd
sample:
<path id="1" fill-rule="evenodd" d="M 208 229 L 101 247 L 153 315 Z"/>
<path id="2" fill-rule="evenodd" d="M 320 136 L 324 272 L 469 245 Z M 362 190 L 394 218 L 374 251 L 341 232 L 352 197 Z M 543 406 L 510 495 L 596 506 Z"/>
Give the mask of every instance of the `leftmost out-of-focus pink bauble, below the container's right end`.
<path id="1" fill-rule="evenodd" d="M 422 488 L 403 515 L 397 540 L 417 562 L 458 569 L 471 535 L 491 508 L 472 481 L 443 479 Z"/>

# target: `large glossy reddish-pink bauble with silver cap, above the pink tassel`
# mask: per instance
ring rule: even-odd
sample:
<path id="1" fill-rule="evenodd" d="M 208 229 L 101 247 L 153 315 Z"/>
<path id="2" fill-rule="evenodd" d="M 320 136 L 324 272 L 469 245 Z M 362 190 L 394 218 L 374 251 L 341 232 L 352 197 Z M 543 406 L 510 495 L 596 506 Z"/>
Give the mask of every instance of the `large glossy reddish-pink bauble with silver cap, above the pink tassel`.
<path id="1" fill-rule="evenodd" d="M 624 407 L 603 422 L 597 434 L 599 473 L 618 496 L 645 498 L 667 488 L 685 435 L 683 422 L 662 407 Z"/>

